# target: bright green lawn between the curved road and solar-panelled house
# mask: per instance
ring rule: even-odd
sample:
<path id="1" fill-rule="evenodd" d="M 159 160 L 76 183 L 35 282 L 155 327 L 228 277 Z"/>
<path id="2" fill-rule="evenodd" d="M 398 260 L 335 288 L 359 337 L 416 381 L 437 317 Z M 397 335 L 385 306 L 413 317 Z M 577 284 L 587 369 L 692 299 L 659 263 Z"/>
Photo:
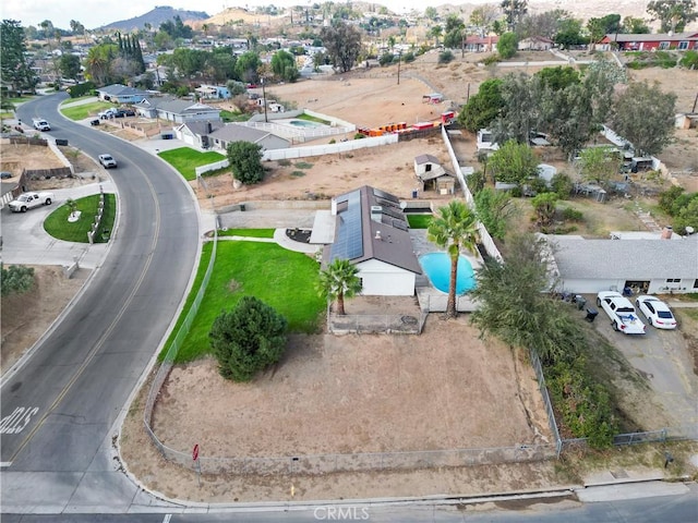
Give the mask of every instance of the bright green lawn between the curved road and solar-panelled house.
<path id="1" fill-rule="evenodd" d="M 206 271 L 212 248 L 210 242 L 204 245 L 198 282 Z M 325 311 L 325 300 L 317 295 L 315 288 L 317 278 L 317 263 L 302 253 L 287 251 L 275 243 L 219 242 L 206 294 L 176 361 L 189 362 L 207 354 L 208 331 L 214 320 L 222 311 L 234 307 L 243 295 L 256 296 L 282 314 L 290 332 L 315 332 Z M 192 288 L 182 318 L 197 290 L 198 283 Z M 178 328 L 179 323 L 173 335 Z"/>

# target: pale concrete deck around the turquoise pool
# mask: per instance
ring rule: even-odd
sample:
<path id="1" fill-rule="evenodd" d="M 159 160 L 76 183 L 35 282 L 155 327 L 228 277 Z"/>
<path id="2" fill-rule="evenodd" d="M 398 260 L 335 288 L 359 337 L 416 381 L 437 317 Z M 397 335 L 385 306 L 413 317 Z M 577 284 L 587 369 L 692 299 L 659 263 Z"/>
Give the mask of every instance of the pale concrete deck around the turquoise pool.
<path id="1" fill-rule="evenodd" d="M 428 240 L 426 229 L 410 229 L 410 238 L 412 240 L 412 248 L 418 258 L 423 254 L 445 252 L 444 248 Z M 460 254 L 470 262 L 473 270 L 482 266 L 482 260 L 479 256 L 476 257 L 468 252 Z M 446 312 L 448 294 L 432 287 L 426 275 L 417 275 L 414 291 L 417 292 L 417 299 L 422 312 Z M 459 313 L 472 313 L 476 309 L 476 305 L 474 302 L 468 297 L 468 294 L 464 294 L 456 296 L 456 309 Z"/>

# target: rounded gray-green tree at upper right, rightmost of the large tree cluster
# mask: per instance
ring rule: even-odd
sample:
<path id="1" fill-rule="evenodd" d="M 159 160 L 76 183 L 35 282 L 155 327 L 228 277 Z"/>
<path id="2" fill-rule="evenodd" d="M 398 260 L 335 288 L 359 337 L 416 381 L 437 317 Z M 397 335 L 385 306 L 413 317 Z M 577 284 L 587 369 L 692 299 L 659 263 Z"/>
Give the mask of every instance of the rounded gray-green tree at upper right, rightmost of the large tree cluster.
<path id="1" fill-rule="evenodd" d="M 611 127 L 635 147 L 637 156 L 657 155 L 673 139 L 676 95 L 659 84 L 633 82 L 613 106 Z"/>

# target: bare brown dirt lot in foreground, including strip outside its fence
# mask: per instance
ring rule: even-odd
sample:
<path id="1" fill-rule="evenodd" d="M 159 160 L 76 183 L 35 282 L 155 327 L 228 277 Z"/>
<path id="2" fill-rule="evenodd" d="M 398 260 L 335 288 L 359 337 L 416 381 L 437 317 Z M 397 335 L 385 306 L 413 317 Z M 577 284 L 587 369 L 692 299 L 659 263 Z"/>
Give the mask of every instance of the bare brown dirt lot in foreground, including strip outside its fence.
<path id="1" fill-rule="evenodd" d="M 196 442 L 207 458 L 504 447 L 550 440 L 535 377 L 520 354 L 513 357 L 498 341 L 480 340 L 466 317 L 445 324 L 435 316 L 417 337 L 293 337 L 285 358 L 251 384 L 226 381 L 214 360 L 176 367 L 160 392 L 154 427 L 169 447 L 186 453 Z M 131 410 L 122 430 L 121 451 L 129 470 L 168 497 L 192 492 L 209 501 L 232 500 L 233 494 L 238 500 L 288 497 L 288 485 L 279 478 L 252 478 L 257 486 L 243 486 L 239 478 L 207 475 L 202 488 L 192 489 L 190 482 L 195 477 L 189 471 L 154 462 L 149 450 L 143 453 L 151 443 L 139 408 Z M 526 470 L 521 467 L 512 481 L 521 481 Z M 372 478 L 373 486 L 380 478 L 386 496 L 417 494 L 404 489 L 406 477 L 412 478 L 412 486 L 419 477 L 420 492 L 437 494 L 443 492 L 444 478 L 454 476 L 375 472 L 330 477 L 329 482 L 327 475 L 297 477 L 296 499 L 314 499 L 321 485 L 323 497 L 369 495 L 365 486 L 356 490 L 358 477 Z M 526 479 L 538 481 L 528 473 Z M 231 481 L 238 484 L 236 489 L 229 488 Z M 260 484 L 265 488 L 260 490 Z"/>

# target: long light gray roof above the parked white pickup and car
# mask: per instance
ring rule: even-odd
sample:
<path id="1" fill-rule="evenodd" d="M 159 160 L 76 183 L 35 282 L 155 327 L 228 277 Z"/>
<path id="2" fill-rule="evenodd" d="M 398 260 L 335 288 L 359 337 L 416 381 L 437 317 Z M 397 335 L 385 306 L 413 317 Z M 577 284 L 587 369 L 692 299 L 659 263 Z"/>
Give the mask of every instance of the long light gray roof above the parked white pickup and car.
<path id="1" fill-rule="evenodd" d="M 546 236 L 557 245 L 562 278 L 626 280 L 698 279 L 698 238 L 585 240 Z"/>

